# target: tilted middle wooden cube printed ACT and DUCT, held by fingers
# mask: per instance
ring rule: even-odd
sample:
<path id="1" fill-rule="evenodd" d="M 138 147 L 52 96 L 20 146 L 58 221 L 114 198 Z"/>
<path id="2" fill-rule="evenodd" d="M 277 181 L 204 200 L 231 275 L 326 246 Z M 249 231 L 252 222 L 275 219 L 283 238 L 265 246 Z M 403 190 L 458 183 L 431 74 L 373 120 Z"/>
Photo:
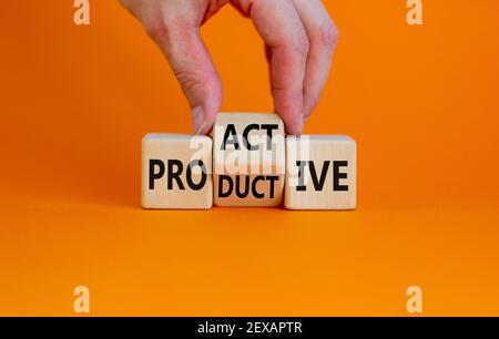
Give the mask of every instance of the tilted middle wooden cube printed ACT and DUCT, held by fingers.
<path id="1" fill-rule="evenodd" d="M 220 113 L 213 132 L 216 206 L 272 207 L 284 196 L 284 123 L 276 114 Z"/>

